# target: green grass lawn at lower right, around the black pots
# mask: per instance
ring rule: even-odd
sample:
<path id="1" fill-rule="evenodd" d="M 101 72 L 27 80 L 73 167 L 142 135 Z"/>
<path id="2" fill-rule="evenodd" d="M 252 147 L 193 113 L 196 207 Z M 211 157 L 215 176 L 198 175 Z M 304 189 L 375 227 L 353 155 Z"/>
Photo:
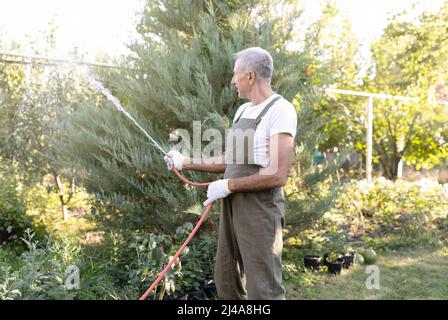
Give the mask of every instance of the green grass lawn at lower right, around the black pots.
<path id="1" fill-rule="evenodd" d="M 286 282 L 287 298 L 315 300 L 448 299 L 448 248 L 413 248 L 380 254 L 380 289 L 367 289 L 365 265 L 340 276 L 303 272 Z M 300 272 L 300 271 L 298 271 Z"/>

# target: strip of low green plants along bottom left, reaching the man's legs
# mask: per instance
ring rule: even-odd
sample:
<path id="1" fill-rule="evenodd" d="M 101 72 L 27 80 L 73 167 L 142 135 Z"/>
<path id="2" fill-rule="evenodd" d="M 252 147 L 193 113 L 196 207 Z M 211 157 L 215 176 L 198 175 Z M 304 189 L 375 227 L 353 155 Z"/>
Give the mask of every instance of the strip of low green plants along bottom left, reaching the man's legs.
<path id="1" fill-rule="evenodd" d="M 137 299 L 156 279 L 191 231 L 174 237 L 134 232 L 110 237 L 103 246 L 83 247 L 77 239 L 34 240 L 27 231 L 27 250 L 14 258 L 0 247 L 0 299 Z M 212 280 L 216 241 L 198 234 L 150 298 L 179 297 Z M 66 270 L 77 266 L 80 289 L 66 287 Z"/>

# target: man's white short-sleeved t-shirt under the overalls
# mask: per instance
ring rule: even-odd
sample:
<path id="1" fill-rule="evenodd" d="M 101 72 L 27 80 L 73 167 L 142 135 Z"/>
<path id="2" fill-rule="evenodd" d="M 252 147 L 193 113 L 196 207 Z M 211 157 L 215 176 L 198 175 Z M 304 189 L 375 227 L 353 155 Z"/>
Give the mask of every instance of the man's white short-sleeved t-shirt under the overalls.
<path id="1" fill-rule="evenodd" d="M 240 106 L 236 111 L 233 122 L 238 119 L 241 112 L 241 119 L 256 119 L 263 111 L 264 107 L 272 101 L 278 94 L 273 94 L 264 102 L 258 105 L 252 105 L 247 102 Z M 296 136 L 297 131 L 297 112 L 296 108 L 289 101 L 281 98 L 274 102 L 258 124 L 254 136 L 254 162 L 255 164 L 266 168 L 269 165 L 269 141 L 270 137 L 279 133 L 289 133 L 292 137 Z"/>

